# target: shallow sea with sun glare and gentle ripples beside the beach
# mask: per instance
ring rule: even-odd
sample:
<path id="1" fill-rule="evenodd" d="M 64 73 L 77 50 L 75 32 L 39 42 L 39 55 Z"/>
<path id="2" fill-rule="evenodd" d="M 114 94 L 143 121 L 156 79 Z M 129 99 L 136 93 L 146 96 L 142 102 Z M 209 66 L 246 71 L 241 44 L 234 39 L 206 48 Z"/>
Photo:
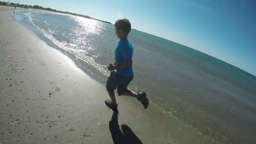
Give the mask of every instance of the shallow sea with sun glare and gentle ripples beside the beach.
<path id="1" fill-rule="evenodd" d="M 105 83 L 118 39 L 113 24 L 44 11 L 10 15 Z M 132 23 L 132 21 L 131 21 Z M 224 144 L 256 143 L 256 77 L 224 61 L 132 29 L 134 80 L 164 115 Z"/>

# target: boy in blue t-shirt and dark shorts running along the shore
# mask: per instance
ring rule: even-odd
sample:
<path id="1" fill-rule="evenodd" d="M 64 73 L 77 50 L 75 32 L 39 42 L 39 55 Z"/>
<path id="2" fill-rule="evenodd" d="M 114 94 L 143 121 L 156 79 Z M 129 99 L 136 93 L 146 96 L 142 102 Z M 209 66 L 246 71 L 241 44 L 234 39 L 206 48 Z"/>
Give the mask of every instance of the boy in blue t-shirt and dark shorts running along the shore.
<path id="1" fill-rule="evenodd" d="M 115 22 L 115 34 L 120 41 L 115 48 L 115 64 L 109 64 L 107 67 L 109 71 L 112 71 L 106 85 L 111 100 L 105 100 L 105 104 L 114 111 L 117 110 L 117 101 L 114 93 L 116 88 L 119 96 L 132 96 L 138 99 L 145 109 L 149 105 L 146 93 L 135 93 L 127 89 L 128 84 L 133 80 L 133 47 L 127 39 L 130 31 L 131 23 L 128 19 L 119 19 Z"/>

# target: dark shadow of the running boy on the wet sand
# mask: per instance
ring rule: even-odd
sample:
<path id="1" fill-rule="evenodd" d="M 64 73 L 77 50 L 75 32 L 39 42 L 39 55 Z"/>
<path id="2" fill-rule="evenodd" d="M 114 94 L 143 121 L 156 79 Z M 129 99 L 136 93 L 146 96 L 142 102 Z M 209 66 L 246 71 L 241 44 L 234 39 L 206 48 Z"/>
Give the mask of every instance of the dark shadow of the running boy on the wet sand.
<path id="1" fill-rule="evenodd" d="M 143 144 L 127 125 L 122 125 L 120 130 L 118 125 L 118 113 L 113 112 L 111 121 L 109 121 L 109 130 L 114 144 Z"/>

